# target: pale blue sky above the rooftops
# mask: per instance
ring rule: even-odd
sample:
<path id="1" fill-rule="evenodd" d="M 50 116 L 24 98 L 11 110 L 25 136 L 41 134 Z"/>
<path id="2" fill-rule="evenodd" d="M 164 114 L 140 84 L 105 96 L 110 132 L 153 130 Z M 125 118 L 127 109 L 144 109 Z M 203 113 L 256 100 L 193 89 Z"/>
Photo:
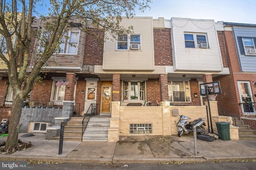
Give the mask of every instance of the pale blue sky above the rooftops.
<path id="1" fill-rule="evenodd" d="M 47 0 L 46 0 L 47 1 Z M 151 9 L 136 16 L 152 16 L 154 19 L 172 17 L 209 19 L 242 24 L 256 24 L 256 0 L 152 0 Z M 38 8 L 47 12 L 47 8 Z"/>

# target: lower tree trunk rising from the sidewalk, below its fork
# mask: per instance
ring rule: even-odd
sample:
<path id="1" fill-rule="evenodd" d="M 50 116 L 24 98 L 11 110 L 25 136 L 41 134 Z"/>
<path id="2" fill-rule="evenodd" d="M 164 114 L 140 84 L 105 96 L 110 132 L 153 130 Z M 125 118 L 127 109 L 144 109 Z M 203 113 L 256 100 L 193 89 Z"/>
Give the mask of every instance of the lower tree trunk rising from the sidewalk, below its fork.
<path id="1" fill-rule="evenodd" d="M 7 149 L 9 146 L 18 146 L 18 127 L 20 124 L 23 100 L 16 99 L 15 101 L 16 102 L 12 103 L 12 111 L 8 126 L 8 137 L 6 140 L 5 149 Z"/>

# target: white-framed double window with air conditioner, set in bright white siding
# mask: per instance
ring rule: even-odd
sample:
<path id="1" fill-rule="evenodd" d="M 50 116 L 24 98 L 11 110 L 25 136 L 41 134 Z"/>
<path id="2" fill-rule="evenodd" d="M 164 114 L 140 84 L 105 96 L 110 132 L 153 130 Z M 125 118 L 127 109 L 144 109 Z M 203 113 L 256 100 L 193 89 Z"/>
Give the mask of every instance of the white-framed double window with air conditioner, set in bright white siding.
<path id="1" fill-rule="evenodd" d="M 208 48 L 208 41 L 206 34 L 199 33 L 185 33 L 185 47 L 186 48 Z"/>

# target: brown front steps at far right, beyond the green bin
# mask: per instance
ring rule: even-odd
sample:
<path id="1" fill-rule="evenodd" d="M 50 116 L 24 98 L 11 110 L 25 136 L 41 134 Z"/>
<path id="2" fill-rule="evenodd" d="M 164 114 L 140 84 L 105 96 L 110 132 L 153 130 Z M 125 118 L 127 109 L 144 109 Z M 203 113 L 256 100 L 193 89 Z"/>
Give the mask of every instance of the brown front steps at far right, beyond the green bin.
<path id="1" fill-rule="evenodd" d="M 239 140 L 256 140 L 255 130 L 251 130 L 248 125 L 244 125 L 243 121 L 236 120 L 236 126 L 239 127 Z"/>

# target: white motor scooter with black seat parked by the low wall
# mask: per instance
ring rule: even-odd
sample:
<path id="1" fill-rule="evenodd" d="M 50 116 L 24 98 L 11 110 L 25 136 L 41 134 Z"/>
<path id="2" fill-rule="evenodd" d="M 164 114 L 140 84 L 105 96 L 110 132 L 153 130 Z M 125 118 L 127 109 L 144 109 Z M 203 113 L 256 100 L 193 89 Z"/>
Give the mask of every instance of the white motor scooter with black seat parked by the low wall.
<path id="1" fill-rule="evenodd" d="M 193 127 L 196 127 L 196 132 L 198 132 L 199 134 L 204 134 L 205 128 L 202 125 L 206 126 L 204 123 L 205 118 L 199 118 L 187 124 L 187 120 L 189 119 L 189 117 L 186 117 L 184 115 L 180 116 L 180 120 L 177 124 L 178 136 L 180 137 L 182 136 L 182 134 L 193 133 Z"/>

